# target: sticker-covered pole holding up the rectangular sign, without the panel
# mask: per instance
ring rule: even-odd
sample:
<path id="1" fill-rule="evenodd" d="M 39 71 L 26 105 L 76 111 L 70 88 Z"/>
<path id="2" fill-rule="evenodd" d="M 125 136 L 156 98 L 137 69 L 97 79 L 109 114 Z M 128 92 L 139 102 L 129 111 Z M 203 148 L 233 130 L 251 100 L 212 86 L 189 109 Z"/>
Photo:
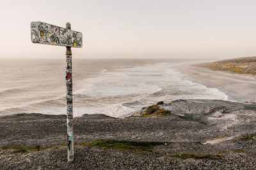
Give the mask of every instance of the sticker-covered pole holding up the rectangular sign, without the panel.
<path id="1" fill-rule="evenodd" d="M 67 29 L 71 24 L 67 22 Z M 72 99 L 72 52 L 71 47 L 66 46 L 66 85 L 67 85 L 67 138 L 68 138 L 68 162 L 74 160 L 74 137 L 73 137 L 73 99 Z"/>

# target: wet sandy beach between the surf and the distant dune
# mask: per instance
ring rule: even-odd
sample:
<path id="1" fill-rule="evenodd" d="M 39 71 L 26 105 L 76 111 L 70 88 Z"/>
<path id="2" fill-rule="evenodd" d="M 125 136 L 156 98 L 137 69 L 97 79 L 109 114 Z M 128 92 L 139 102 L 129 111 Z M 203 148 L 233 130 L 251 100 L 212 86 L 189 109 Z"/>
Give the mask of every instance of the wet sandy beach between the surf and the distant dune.
<path id="1" fill-rule="evenodd" d="M 212 71 L 207 64 L 179 65 L 175 69 L 190 76 L 192 81 L 225 92 L 230 101 L 244 102 L 256 98 L 256 77 L 253 75 Z"/>

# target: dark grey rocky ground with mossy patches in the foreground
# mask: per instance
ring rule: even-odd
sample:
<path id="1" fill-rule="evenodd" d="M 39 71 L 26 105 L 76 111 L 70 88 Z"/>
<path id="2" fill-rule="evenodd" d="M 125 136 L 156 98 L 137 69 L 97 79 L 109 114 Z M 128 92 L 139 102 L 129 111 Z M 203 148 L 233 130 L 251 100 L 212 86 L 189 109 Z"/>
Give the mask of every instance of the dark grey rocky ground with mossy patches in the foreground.
<path id="1" fill-rule="evenodd" d="M 142 117 L 141 117 L 142 116 Z M 0 117 L 0 169 L 255 169 L 256 105 L 178 100 L 129 118 L 74 118 L 67 163 L 65 115 Z"/>

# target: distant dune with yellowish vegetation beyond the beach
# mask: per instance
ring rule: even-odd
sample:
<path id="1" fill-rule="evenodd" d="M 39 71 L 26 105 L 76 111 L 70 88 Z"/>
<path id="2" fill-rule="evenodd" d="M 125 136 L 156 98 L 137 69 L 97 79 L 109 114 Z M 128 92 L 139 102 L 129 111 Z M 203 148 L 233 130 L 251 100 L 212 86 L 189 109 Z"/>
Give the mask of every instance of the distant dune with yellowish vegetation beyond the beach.
<path id="1" fill-rule="evenodd" d="M 217 71 L 227 71 L 239 74 L 256 74 L 256 57 L 240 57 L 236 59 L 220 60 L 217 62 L 196 64 Z"/>

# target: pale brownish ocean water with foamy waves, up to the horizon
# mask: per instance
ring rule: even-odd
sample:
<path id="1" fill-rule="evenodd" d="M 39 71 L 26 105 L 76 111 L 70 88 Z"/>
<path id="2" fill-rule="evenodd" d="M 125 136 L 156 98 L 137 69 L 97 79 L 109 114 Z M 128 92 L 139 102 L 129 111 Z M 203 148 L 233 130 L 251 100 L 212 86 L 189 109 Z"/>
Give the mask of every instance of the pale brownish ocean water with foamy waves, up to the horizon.
<path id="1" fill-rule="evenodd" d="M 74 117 L 127 117 L 175 99 L 221 99 L 218 89 L 173 69 L 188 60 L 73 59 Z M 65 59 L 1 60 L 0 115 L 66 114 Z"/>

